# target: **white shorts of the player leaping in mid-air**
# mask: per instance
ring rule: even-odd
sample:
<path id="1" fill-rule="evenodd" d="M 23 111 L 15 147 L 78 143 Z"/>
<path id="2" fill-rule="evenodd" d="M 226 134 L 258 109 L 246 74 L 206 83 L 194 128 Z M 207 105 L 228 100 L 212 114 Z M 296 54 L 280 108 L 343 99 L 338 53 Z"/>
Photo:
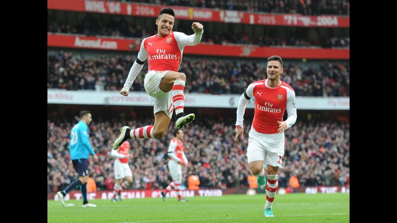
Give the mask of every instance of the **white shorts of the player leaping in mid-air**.
<path id="1" fill-rule="evenodd" d="M 146 93 L 154 97 L 154 105 L 153 105 L 154 114 L 156 114 L 159 111 L 164 111 L 165 114 L 171 118 L 172 112 L 174 111 L 171 91 L 164 92 L 159 87 L 161 79 L 168 71 L 169 70 L 166 71 L 150 70 L 145 76 L 144 86 Z"/>

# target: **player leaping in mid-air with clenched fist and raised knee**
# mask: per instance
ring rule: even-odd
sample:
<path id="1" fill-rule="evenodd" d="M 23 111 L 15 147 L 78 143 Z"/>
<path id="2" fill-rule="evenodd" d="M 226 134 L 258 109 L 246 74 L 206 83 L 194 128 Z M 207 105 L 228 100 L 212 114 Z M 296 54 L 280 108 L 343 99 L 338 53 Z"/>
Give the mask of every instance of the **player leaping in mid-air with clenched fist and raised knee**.
<path id="1" fill-rule="evenodd" d="M 121 143 L 129 138 L 163 138 L 174 109 L 177 128 L 184 128 L 186 123 L 189 124 L 194 120 L 194 114 L 185 115 L 183 112 L 186 75 L 178 70 L 183 48 L 197 45 L 201 41 L 203 25 L 193 22 L 192 29 L 195 33 L 186 35 L 172 31 L 174 21 L 175 13 L 172 8 L 160 10 L 156 19 L 158 33 L 142 40 L 138 58 L 132 65 L 124 87 L 120 91 L 120 94 L 128 95 L 129 88 L 147 58 L 149 71 L 145 76 L 144 86 L 145 91 L 155 98 L 154 125 L 133 130 L 128 126 L 122 127 L 120 136 L 114 141 L 114 150 L 117 150 Z"/>

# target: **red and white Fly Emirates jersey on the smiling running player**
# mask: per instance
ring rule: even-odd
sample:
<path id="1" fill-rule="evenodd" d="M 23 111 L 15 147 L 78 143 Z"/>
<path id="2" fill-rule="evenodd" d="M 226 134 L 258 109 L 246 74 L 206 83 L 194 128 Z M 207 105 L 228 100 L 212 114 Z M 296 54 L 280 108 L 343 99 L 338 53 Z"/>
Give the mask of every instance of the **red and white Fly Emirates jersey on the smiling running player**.
<path id="1" fill-rule="evenodd" d="M 288 117 L 297 115 L 295 106 L 295 92 L 285 82 L 281 81 L 278 87 L 269 87 L 268 79 L 251 83 L 246 90 L 247 96 L 255 97 L 255 115 L 252 127 L 260 133 L 276 134 L 287 109 Z M 288 120 L 288 119 L 287 119 Z M 288 128 L 296 121 L 287 122 Z M 242 120 L 241 120 L 242 123 Z"/>

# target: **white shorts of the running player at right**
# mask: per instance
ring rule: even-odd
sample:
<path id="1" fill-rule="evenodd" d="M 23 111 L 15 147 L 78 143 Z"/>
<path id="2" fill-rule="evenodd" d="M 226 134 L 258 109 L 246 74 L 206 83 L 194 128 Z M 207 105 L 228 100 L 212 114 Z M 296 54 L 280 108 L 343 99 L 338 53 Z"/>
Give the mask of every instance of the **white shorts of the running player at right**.
<path id="1" fill-rule="evenodd" d="M 284 156 L 284 133 L 264 134 L 251 127 L 248 133 L 247 158 L 248 163 L 263 160 L 272 167 L 280 167 Z"/>

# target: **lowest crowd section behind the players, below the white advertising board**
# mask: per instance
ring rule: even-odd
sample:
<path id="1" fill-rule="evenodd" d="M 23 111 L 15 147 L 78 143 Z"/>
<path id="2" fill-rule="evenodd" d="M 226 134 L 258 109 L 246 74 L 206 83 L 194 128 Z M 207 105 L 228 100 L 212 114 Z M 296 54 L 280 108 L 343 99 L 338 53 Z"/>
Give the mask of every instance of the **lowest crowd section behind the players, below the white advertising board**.
<path id="1" fill-rule="evenodd" d="M 47 120 L 47 192 L 63 190 L 77 176 L 69 168 L 68 143 L 71 127 L 78 121 Z M 154 120 L 123 122 L 134 128 Z M 183 168 L 184 184 L 190 175 L 198 175 L 200 188 L 248 187 L 246 149 L 251 123 L 244 123 L 246 137 L 234 142 L 235 120 L 214 118 L 195 120 L 184 129 L 183 145 L 189 160 Z M 90 142 L 99 163 L 89 160 L 89 175 L 97 190 L 112 190 L 113 161 L 110 156 L 113 140 L 122 125 L 120 121 L 93 118 L 89 125 Z M 134 175 L 130 189 L 163 189 L 170 182 L 166 155 L 172 139 L 173 120 L 167 135 L 159 140 L 129 140 L 133 158 L 129 164 Z M 286 149 L 279 186 L 287 187 L 296 176 L 301 186 L 350 184 L 350 125 L 345 122 L 299 121 L 286 131 Z"/>

